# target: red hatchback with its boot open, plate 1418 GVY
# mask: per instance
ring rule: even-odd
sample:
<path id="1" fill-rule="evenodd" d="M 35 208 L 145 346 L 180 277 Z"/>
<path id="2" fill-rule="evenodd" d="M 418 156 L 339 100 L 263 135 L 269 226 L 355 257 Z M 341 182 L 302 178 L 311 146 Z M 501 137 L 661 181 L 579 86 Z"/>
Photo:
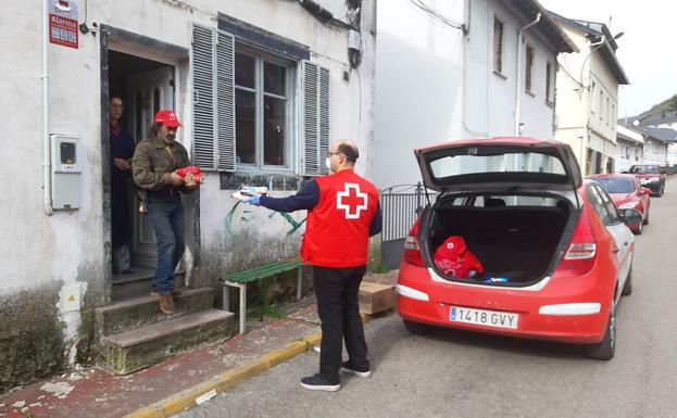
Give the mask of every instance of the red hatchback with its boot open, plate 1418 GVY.
<path id="1" fill-rule="evenodd" d="M 635 238 L 625 223 L 641 214 L 619 214 L 561 142 L 473 139 L 415 155 L 425 186 L 439 193 L 400 263 L 398 312 L 408 329 L 579 343 L 593 358 L 612 358 L 615 307 L 632 289 Z M 464 239 L 481 270 L 455 277 L 440 268 L 434 254 L 451 237 Z"/>

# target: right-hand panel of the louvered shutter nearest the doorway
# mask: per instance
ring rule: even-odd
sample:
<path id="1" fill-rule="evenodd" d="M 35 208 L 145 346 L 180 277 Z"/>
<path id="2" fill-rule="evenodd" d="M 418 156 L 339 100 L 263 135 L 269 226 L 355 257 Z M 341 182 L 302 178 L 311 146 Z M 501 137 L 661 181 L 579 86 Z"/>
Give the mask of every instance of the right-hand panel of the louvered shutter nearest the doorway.
<path id="1" fill-rule="evenodd" d="M 235 38 L 222 30 L 218 30 L 216 63 L 217 168 L 235 172 Z"/>

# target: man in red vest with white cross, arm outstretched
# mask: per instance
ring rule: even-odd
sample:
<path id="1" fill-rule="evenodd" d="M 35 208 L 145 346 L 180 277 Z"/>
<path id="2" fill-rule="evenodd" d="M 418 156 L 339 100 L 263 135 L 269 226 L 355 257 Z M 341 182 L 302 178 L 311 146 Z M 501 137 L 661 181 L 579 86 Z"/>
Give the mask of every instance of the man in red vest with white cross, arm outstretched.
<path id="1" fill-rule="evenodd" d="M 378 190 L 353 170 L 358 145 L 331 143 L 326 164 L 331 175 L 308 181 L 291 197 L 254 194 L 246 202 L 278 212 L 308 210 L 301 245 L 303 263 L 313 266 L 317 314 L 322 320 L 319 372 L 301 379 L 305 389 L 338 391 L 339 371 L 372 376 L 358 292 L 366 270 L 368 239 L 380 232 Z M 343 341 L 348 362 L 342 362 Z"/>

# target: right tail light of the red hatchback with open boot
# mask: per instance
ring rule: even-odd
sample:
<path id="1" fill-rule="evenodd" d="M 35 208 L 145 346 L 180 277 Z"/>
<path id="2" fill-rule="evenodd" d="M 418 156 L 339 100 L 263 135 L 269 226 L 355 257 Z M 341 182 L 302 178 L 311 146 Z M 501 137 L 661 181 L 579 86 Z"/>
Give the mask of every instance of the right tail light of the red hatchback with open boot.
<path id="1" fill-rule="evenodd" d="M 554 277 L 582 276 L 592 269 L 597 259 L 597 240 L 586 208 L 580 213 L 578 225 L 566 254 L 560 262 Z"/>

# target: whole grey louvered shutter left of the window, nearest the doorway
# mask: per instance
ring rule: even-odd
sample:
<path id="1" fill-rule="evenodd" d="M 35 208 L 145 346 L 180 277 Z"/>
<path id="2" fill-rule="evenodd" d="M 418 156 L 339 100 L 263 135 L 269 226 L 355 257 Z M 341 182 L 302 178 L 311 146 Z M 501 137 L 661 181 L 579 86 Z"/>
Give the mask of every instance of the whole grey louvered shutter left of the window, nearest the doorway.
<path id="1" fill-rule="evenodd" d="M 195 164 L 235 172 L 235 39 L 213 28 L 192 27 Z"/>

